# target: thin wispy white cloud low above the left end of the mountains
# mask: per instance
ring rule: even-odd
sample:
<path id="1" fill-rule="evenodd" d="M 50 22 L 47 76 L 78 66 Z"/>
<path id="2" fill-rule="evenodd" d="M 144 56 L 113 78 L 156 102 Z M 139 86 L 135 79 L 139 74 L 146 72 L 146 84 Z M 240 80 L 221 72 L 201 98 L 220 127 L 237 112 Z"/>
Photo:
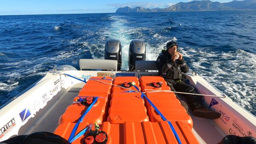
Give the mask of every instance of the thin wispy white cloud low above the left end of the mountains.
<path id="1" fill-rule="evenodd" d="M 135 8 L 137 6 L 141 6 L 144 8 L 167 8 L 172 6 L 173 3 L 142 3 L 142 2 L 134 2 L 134 3 L 110 3 L 107 6 L 114 6 L 116 9 L 120 7 L 129 6 L 131 8 Z"/>

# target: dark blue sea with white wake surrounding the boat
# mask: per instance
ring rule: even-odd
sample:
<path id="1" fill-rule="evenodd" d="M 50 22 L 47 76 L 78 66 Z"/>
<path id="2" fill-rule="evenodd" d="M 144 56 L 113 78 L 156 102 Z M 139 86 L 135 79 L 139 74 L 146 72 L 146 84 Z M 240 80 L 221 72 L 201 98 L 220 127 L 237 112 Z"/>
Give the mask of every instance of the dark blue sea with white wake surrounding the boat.
<path id="1" fill-rule="evenodd" d="M 0 105 L 56 66 L 104 59 L 105 41 L 144 40 L 156 60 L 176 40 L 190 69 L 256 115 L 256 11 L 0 16 Z"/>

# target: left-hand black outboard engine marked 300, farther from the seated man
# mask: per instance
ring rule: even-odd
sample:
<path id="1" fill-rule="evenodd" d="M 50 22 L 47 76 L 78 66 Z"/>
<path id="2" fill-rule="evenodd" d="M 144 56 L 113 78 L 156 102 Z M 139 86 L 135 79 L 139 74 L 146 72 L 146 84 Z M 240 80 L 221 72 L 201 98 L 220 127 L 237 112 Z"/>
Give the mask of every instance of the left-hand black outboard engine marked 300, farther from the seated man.
<path id="1" fill-rule="evenodd" d="M 122 46 L 119 40 L 108 40 L 105 45 L 105 60 L 117 60 L 117 70 L 122 67 Z"/>

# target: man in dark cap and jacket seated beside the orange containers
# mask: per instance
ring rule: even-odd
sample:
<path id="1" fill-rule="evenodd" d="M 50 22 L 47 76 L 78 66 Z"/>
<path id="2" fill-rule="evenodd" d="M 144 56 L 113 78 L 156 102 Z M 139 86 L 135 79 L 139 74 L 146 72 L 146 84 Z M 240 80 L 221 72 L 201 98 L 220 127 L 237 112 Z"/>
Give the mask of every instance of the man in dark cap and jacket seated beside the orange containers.
<path id="1" fill-rule="evenodd" d="M 167 43 L 166 50 L 158 56 L 156 66 L 158 75 L 162 76 L 170 86 L 172 91 L 196 93 L 194 87 L 184 83 L 181 77 L 181 72 L 189 72 L 189 67 L 186 64 L 180 52 L 177 52 L 178 45 L 175 41 Z M 206 109 L 202 104 L 203 96 L 199 95 L 184 95 L 196 117 L 216 119 L 221 116 L 218 112 L 213 112 Z"/>

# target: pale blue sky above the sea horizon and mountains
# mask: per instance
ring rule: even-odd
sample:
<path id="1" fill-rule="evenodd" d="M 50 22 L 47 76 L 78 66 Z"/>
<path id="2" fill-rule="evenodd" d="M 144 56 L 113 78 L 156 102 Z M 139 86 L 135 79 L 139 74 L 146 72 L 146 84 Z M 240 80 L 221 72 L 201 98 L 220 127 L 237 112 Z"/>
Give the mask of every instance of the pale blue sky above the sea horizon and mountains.
<path id="1" fill-rule="evenodd" d="M 111 13 L 119 7 L 166 8 L 191 0 L 0 0 L 0 15 Z M 232 0 L 211 0 L 221 3 Z"/>

